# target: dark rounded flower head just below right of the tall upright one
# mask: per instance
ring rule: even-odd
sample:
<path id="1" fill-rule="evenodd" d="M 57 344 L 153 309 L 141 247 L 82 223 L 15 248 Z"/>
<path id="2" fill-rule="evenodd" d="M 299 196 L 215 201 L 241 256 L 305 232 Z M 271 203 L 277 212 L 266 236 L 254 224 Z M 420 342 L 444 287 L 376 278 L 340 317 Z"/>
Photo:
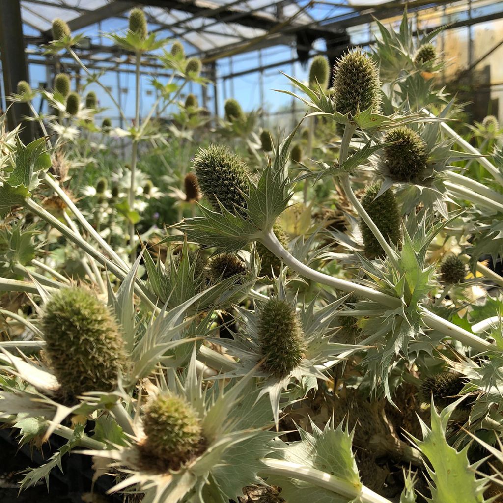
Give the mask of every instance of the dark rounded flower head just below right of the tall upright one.
<path id="1" fill-rule="evenodd" d="M 396 182 L 421 181 L 428 160 L 421 136 L 409 127 L 399 126 L 391 129 L 384 141 L 395 142 L 384 148 L 384 163 L 390 177 Z"/>

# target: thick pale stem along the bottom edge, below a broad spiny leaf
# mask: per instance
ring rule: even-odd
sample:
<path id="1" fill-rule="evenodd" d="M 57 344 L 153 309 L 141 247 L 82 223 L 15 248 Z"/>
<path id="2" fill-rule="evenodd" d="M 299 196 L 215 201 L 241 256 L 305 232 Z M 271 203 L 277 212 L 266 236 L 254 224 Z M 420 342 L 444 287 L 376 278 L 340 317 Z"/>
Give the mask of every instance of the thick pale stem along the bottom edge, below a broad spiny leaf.
<path id="1" fill-rule="evenodd" d="M 362 503 L 392 503 L 389 499 L 377 494 L 377 492 L 374 492 L 365 485 L 348 482 L 315 468 L 279 459 L 263 458 L 262 462 L 267 466 L 267 468 L 261 471 L 262 475 L 266 477 L 269 474 L 301 480 L 316 487 L 332 491 L 334 495 L 338 494 L 351 500 L 361 501 Z"/>

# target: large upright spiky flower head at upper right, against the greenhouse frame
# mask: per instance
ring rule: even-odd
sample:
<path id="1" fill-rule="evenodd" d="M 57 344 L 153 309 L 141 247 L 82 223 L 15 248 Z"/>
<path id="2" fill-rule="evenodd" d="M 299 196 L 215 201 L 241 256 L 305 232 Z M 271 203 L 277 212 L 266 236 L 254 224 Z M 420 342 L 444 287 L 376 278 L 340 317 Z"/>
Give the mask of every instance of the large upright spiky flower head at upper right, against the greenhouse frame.
<path id="1" fill-rule="evenodd" d="M 376 64 L 360 50 L 349 52 L 334 67 L 333 87 L 337 111 L 354 116 L 381 104 L 381 83 Z"/>

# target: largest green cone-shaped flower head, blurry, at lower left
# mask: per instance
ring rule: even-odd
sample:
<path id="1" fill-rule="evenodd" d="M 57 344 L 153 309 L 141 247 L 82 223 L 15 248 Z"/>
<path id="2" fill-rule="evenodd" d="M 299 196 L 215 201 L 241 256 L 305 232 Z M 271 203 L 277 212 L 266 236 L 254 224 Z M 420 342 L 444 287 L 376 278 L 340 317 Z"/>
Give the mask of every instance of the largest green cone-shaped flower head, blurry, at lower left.
<path id="1" fill-rule="evenodd" d="M 53 372 L 67 396 L 112 391 L 126 370 L 122 334 L 107 306 L 83 288 L 65 288 L 44 308 L 42 332 Z"/>

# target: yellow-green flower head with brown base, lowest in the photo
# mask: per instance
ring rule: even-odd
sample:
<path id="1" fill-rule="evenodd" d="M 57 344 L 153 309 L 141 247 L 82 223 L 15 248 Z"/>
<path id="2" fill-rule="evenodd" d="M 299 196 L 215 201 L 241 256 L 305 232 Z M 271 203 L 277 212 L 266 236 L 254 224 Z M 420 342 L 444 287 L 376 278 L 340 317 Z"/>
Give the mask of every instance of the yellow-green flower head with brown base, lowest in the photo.
<path id="1" fill-rule="evenodd" d="M 195 454 L 202 444 L 201 421 L 196 410 L 184 398 L 166 392 L 147 406 L 143 416 L 146 439 L 140 447 L 143 454 L 180 466 Z"/>

